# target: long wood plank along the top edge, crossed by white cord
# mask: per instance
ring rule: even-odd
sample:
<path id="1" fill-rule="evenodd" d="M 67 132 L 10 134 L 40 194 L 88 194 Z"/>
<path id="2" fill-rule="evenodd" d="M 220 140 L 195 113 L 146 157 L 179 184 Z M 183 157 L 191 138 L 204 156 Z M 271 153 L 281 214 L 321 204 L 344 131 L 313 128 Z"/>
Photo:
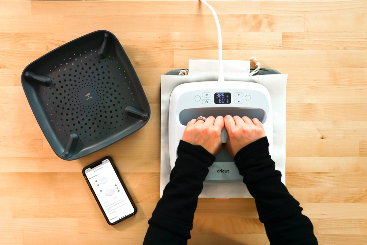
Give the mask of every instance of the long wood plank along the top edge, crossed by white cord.
<path id="1" fill-rule="evenodd" d="M 260 1 L 211 1 L 217 14 L 260 14 Z M 182 8 L 185 6 L 185 8 Z M 32 1 L 33 15 L 63 14 L 63 15 L 163 15 L 163 14 L 211 14 L 197 1 L 94 1 L 85 4 L 81 1 L 62 2 L 47 1 L 46 3 Z"/>

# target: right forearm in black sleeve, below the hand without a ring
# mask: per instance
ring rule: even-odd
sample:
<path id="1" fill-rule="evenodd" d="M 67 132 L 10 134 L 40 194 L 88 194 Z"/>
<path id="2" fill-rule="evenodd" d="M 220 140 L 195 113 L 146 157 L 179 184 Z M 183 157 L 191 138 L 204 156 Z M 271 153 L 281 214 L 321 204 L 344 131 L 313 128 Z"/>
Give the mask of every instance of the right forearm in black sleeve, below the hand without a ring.
<path id="1" fill-rule="evenodd" d="M 243 182 L 255 198 L 270 244 L 317 244 L 311 221 L 302 215 L 299 202 L 281 183 L 281 173 L 275 170 L 269 155 L 268 139 L 261 138 L 242 148 L 235 161 Z"/>

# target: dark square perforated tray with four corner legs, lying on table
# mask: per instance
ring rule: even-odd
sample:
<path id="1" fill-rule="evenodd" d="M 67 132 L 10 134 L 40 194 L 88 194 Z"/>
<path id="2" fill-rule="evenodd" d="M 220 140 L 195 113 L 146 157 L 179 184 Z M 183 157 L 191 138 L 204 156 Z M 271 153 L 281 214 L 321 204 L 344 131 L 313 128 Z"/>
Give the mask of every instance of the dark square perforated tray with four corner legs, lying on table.
<path id="1" fill-rule="evenodd" d="M 124 49 L 98 30 L 30 63 L 22 86 L 48 143 L 62 159 L 98 151 L 143 127 L 150 107 Z"/>

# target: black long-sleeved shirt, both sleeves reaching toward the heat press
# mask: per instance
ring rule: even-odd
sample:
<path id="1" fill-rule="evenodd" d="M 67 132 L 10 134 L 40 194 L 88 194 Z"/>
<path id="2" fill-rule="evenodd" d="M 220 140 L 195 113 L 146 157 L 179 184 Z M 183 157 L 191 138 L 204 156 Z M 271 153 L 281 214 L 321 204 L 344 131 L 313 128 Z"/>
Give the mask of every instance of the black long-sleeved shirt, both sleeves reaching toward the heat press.
<path id="1" fill-rule="evenodd" d="M 312 223 L 281 183 L 281 173 L 275 170 L 268 146 L 266 137 L 245 146 L 236 154 L 235 164 L 255 198 L 270 244 L 317 244 Z M 203 147 L 182 140 L 177 150 L 170 182 L 148 221 L 143 245 L 181 245 L 191 238 L 197 197 L 215 157 Z"/>

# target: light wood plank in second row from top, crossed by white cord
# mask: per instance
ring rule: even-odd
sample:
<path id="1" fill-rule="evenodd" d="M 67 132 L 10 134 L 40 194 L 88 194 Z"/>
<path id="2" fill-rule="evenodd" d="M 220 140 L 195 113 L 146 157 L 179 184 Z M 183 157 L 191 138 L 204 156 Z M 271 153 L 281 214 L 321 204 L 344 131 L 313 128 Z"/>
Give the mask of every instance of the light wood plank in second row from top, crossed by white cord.
<path id="1" fill-rule="evenodd" d="M 167 32 L 181 28 L 190 31 L 201 31 L 203 29 L 216 31 L 211 14 L 109 15 L 108 18 L 101 15 L 64 15 L 64 18 L 65 32 L 78 31 L 80 26 L 84 26 L 83 30 L 87 32 L 98 29 L 108 29 L 111 32 Z M 231 32 L 304 31 L 303 14 L 219 14 L 218 18 L 221 28 Z M 110 19 L 113 19 L 113 22 Z M 247 23 L 256 23 L 256 25 L 247 25 Z"/>

